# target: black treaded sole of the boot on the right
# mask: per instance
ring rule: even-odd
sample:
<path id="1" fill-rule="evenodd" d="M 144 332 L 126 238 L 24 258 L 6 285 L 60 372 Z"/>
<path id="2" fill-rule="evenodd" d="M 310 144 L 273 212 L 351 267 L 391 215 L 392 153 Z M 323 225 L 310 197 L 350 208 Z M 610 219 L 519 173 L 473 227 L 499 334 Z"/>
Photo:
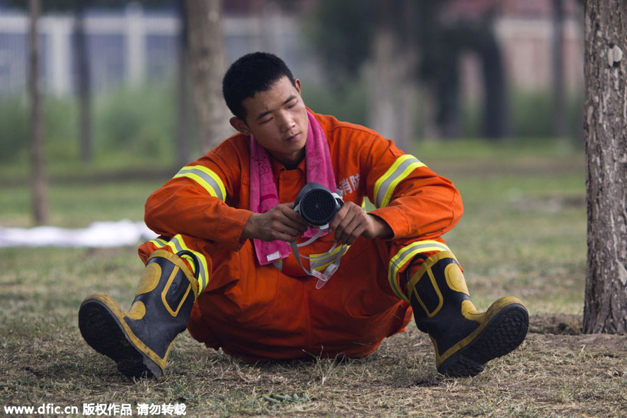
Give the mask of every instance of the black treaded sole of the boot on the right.
<path id="1" fill-rule="evenodd" d="M 438 372 L 445 376 L 475 376 L 492 359 L 511 353 L 527 336 L 529 314 L 520 304 L 511 304 L 496 314 L 464 348 L 444 360 Z"/>

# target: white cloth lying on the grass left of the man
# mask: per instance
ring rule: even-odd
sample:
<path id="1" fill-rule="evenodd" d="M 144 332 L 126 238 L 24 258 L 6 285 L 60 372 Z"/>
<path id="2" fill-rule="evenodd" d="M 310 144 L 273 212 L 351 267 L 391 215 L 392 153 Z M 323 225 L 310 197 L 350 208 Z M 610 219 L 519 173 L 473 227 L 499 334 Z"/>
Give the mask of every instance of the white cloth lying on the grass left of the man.
<path id="1" fill-rule="evenodd" d="M 144 222 L 123 219 L 119 222 L 93 222 L 84 229 L 56 226 L 3 228 L 0 247 L 121 247 L 154 240 L 157 234 Z"/>

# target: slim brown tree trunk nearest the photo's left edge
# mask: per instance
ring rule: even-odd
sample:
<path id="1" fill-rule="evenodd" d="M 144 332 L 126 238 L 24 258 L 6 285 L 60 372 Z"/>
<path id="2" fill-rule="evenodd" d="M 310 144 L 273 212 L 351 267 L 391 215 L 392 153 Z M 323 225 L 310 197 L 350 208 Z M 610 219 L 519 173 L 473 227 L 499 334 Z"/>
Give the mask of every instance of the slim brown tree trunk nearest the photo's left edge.
<path id="1" fill-rule="evenodd" d="M 31 192 L 33 218 L 36 224 L 48 222 L 47 190 L 44 161 L 44 126 L 42 79 L 40 77 L 39 15 L 41 0 L 29 0 L 31 17 L 29 33 L 29 95 L 31 99 Z"/>

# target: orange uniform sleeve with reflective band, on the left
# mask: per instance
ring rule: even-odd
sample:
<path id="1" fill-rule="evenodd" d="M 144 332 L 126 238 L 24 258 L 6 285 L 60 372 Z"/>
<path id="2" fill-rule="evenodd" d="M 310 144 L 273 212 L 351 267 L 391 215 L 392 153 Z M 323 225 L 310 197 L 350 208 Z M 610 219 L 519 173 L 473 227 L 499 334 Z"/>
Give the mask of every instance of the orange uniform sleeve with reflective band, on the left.
<path id="1" fill-rule="evenodd" d="M 189 235 L 240 249 L 251 215 L 238 208 L 241 161 L 234 147 L 223 144 L 180 169 L 148 197 L 144 212 L 148 228 L 160 235 Z"/>

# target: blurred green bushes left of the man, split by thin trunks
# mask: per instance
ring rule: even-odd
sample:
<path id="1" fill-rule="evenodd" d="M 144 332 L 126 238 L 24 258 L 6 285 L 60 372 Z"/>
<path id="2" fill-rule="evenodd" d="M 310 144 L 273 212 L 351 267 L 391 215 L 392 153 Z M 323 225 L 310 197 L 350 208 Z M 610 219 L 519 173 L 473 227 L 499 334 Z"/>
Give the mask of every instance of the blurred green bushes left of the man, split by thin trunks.
<path id="1" fill-rule="evenodd" d="M 169 83 L 120 87 L 100 95 L 93 111 L 94 164 L 174 164 L 176 92 Z M 0 100 L 0 163 L 28 164 L 26 97 Z M 79 162 L 77 102 L 48 96 L 44 104 L 46 155 L 50 164 Z"/>

